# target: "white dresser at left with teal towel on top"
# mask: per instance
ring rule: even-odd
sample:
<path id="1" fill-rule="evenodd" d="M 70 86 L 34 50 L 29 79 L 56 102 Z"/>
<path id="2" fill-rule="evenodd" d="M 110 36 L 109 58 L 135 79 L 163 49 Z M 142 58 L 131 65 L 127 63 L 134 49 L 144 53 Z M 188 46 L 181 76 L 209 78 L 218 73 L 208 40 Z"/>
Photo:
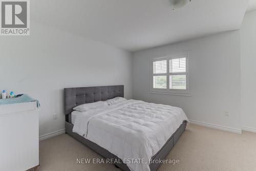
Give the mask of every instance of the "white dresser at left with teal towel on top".
<path id="1" fill-rule="evenodd" d="M 0 170 L 37 168 L 38 144 L 36 102 L 0 105 Z"/>

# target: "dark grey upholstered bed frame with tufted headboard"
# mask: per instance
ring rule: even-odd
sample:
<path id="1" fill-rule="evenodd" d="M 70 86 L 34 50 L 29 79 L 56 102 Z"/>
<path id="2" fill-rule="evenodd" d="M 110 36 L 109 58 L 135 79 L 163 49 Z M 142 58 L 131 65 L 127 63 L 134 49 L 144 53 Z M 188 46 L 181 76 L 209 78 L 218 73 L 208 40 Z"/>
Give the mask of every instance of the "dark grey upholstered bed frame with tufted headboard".
<path id="1" fill-rule="evenodd" d="M 77 105 L 84 103 L 92 103 L 96 101 L 104 101 L 108 99 L 112 99 L 114 97 L 123 97 L 123 86 L 101 86 L 101 87 L 83 87 L 83 88 L 66 88 L 64 89 L 64 100 L 65 100 L 65 115 L 66 115 L 66 133 L 82 142 L 84 145 L 93 149 L 96 153 L 103 156 L 106 159 L 117 159 L 119 158 L 114 154 L 110 153 L 106 149 L 97 145 L 96 143 L 73 133 L 73 124 L 71 122 L 71 112 L 73 108 Z M 184 132 L 186 127 L 186 121 L 180 125 L 179 129 L 168 139 L 168 141 L 164 144 L 164 146 L 160 149 L 160 151 L 152 157 L 153 160 L 157 159 L 165 159 L 165 157 L 169 154 L 170 150 L 174 147 L 174 145 L 179 140 L 180 136 Z M 119 160 L 121 161 L 121 159 Z M 129 167 L 127 167 L 124 163 L 115 163 L 116 167 L 120 167 L 122 170 L 131 171 Z M 151 171 L 157 170 L 160 163 L 151 163 L 150 169 Z"/>

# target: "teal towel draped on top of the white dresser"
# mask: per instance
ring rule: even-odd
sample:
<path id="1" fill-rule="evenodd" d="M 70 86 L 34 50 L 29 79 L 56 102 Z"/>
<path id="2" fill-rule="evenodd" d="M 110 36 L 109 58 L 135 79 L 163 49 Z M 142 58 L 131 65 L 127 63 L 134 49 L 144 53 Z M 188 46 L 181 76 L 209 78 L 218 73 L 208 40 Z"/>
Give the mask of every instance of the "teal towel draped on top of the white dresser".
<path id="1" fill-rule="evenodd" d="M 36 101 L 37 108 L 40 107 L 40 103 L 39 103 L 38 100 L 33 99 L 33 98 L 29 97 L 26 94 L 23 94 L 23 95 L 21 95 L 19 97 L 16 97 L 16 98 L 0 99 L 0 105 L 13 104 L 13 103 L 24 103 L 24 102 L 31 102 L 31 101 Z"/>

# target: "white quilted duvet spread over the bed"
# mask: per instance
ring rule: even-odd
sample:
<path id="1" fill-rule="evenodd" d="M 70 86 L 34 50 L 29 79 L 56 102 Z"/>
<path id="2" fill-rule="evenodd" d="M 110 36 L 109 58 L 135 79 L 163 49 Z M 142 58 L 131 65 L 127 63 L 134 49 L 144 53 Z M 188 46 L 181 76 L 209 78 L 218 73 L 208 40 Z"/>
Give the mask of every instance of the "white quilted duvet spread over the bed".
<path id="1" fill-rule="evenodd" d="M 107 149 L 134 171 L 150 170 L 149 160 L 188 121 L 182 109 L 140 100 L 125 100 L 104 109 L 82 112 L 73 132 Z M 131 161 L 131 160 L 130 160 Z"/>

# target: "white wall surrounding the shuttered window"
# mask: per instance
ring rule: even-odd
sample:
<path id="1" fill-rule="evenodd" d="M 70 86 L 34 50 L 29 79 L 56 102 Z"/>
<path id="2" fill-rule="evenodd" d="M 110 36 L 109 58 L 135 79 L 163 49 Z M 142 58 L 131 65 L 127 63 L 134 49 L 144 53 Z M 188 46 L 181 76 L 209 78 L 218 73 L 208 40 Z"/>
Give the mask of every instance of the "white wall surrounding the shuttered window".
<path id="1" fill-rule="evenodd" d="M 191 97 L 150 93 L 150 58 L 190 50 Z M 181 107 L 189 119 L 239 131 L 240 31 L 179 42 L 133 54 L 133 98 Z M 230 116 L 224 115 L 228 111 Z"/>

